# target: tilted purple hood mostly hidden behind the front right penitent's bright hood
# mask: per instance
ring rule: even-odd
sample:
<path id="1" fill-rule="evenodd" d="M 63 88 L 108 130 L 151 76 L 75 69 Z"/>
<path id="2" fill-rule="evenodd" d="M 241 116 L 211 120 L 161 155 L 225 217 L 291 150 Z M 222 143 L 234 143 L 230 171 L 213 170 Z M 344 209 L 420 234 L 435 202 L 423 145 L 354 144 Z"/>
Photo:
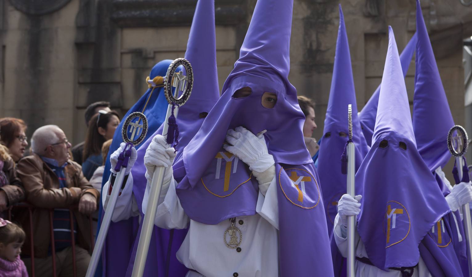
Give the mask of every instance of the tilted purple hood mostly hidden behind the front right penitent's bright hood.
<path id="1" fill-rule="evenodd" d="M 400 63 L 402 64 L 403 77 L 406 76 L 410 62 L 413 58 L 413 53 L 416 47 L 417 35 L 413 34 L 412 38 L 406 44 L 405 49 L 400 54 Z M 377 87 L 371 98 L 365 104 L 359 113 L 359 120 L 361 122 L 362 133 L 364 134 L 367 145 L 372 145 L 372 135 L 374 134 L 375 117 L 377 115 L 377 105 L 379 104 L 380 85 Z"/>

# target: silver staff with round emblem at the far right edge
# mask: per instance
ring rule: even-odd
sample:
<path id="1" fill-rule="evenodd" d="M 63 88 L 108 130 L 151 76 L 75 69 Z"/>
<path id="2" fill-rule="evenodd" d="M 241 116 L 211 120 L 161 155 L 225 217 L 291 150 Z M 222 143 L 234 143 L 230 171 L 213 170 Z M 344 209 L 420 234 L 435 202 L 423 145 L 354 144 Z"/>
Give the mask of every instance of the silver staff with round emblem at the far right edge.
<path id="1" fill-rule="evenodd" d="M 457 135 L 453 137 L 455 132 L 457 133 Z M 449 130 L 449 133 L 447 134 L 447 146 L 451 154 L 455 157 L 456 166 L 459 167 L 459 169 L 457 170 L 459 180 L 463 180 L 463 167 L 465 160 L 464 155 L 465 152 L 467 152 L 468 147 L 468 137 L 464 127 L 455 125 Z M 460 149 L 461 146 L 462 150 Z M 464 215 L 464 233 L 467 245 L 467 262 L 469 264 L 469 275 L 472 276 L 472 221 L 469 203 L 466 203 L 462 206 L 462 213 Z"/>

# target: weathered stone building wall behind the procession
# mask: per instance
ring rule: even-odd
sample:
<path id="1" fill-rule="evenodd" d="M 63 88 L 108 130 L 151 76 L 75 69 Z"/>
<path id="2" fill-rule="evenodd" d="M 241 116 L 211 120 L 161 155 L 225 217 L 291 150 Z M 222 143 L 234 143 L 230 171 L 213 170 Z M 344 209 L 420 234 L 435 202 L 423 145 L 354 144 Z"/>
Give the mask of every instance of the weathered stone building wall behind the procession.
<path id="1" fill-rule="evenodd" d="M 223 85 L 256 0 L 216 0 L 217 62 Z M 183 57 L 196 0 L 0 0 L 0 117 L 23 118 L 27 134 L 57 124 L 84 138 L 84 109 L 108 100 L 123 114 L 145 92 L 161 59 Z M 346 20 L 358 109 L 380 84 L 392 25 L 398 49 L 415 31 L 414 0 L 295 0 L 290 81 L 316 105 L 320 138 L 339 22 Z M 455 122 L 464 124 L 462 41 L 472 6 L 422 0 L 421 7 Z M 413 101 L 414 60 L 406 78 Z"/>

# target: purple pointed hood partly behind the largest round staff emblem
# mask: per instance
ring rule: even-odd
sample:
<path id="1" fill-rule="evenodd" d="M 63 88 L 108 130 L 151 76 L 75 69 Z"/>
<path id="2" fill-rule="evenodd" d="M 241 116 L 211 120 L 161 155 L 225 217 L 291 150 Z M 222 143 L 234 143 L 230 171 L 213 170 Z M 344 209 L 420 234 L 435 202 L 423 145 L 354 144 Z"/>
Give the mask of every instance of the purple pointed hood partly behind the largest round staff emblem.
<path id="1" fill-rule="evenodd" d="M 190 28 L 185 51 L 185 59 L 194 71 L 194 87 L 189 100 L 179 108 L 177 125 L 179 126 L 179 144 L 175 162 L 182 156 L 185 146 L 202 126 L 203 120 L 219 99 L 218 72 L 216 66 L 215 3 L 213 0 L 199 0 Z M 167 124 L 164 122 L 163 124 Z M 138 159 L 132 169 L 135 178 L 135 195 L 143 199 L 146 188 L 144 173 L 144 154 L 152 138 L 162 134 L 163 124 L 143 143 L 138 150 Z M 138 184 L 138 185 L 136 185 Z M 138 201 L 141 206 L 142 201 Z M 140 207 L 141 208 L 141 207 Z"/>

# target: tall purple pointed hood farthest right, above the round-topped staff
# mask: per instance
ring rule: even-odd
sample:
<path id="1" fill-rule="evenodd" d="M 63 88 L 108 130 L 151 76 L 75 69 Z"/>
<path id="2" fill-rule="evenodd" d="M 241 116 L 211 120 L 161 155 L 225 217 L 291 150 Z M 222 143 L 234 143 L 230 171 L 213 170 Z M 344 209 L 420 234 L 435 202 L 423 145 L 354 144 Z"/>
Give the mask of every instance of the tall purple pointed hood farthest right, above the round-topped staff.
<path id="1" fill-rule="evenodd" d="M 416 1 L 416 74 L 413 97 L 413 129 L 421 157 L 431 171 L 444 167 L 451 154 L 447 132 L 454 126 L 446 92 L 439 76 L 420 2 Z"/>

